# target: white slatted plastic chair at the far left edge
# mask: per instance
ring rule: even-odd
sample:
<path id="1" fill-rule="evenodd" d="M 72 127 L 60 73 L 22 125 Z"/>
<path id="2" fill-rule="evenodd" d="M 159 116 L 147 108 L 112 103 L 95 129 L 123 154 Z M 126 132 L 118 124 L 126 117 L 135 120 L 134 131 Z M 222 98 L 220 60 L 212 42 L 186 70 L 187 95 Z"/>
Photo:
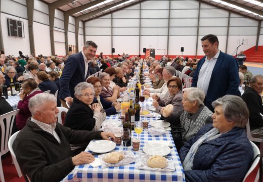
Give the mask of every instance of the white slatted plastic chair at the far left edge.
<path id="1" fill-rule="evenodd" d="M 3 114 L 0 116 L 0 126 L 1 126 L 1 151 L 0 156 L 6 154 L 8 149 L 8 140 L 11 136 L 15 116 L 18 113 L 19 109 L 11 111 L 9 113 Z M 6 124 L 5 124 L 6 123 Z M 2 182 L 5 182 L 2 160 L 0 160 L 0 179 Z"/>

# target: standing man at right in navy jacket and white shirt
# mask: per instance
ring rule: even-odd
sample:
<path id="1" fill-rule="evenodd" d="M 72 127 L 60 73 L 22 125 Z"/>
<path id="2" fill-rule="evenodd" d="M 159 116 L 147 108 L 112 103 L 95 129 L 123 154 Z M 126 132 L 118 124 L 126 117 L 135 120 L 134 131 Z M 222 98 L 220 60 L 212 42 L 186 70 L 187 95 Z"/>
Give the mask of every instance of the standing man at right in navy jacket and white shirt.
<path id="1" fill-rule="evenodd" d="M 218 50 L 218 39 L 209 34 L 201 38 L 205 54 L 193 76 L 193 87 L 204 90 L 205 106 L 211 111 L 211 103 L 225 95 L 241 96 L 238 90 L 238 64 L 235 58 Z"/>

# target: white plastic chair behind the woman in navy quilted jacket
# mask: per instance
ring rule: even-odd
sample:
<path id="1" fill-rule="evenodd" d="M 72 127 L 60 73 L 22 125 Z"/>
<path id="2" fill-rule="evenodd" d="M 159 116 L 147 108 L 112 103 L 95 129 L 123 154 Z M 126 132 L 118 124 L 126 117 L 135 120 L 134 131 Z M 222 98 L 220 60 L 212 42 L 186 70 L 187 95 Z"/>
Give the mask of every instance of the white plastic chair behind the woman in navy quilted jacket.
<path id="1" fill-rule="evenodd" d="M 250 141 L 250 143 L 253 147 L 253 151 L 254 151 L 253 159 L 254 159 L 258 154 L 260 155 L 260 151 L 253 142 Z M 259 179 L 259 160 L 260 160 L 260 157 L 256 157 L 254 159 L 252 165 L 250 166 L 249 170 L 247 171 L 243 179 L 243 182 L 251 182 L 251 181 L 257 182 L 258 181 Z M 253 172 L 254 170 L 256 170 L 255 173 Z"/>

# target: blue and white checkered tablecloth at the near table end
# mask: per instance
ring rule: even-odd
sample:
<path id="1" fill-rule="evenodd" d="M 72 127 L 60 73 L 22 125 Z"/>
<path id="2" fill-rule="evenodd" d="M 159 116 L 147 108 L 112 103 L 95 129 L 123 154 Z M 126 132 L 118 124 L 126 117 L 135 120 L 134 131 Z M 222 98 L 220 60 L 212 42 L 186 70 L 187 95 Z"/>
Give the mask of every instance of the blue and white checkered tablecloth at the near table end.
<path id="1" fill-rule="evenodd" d="M 147 120 L 153 121 L 158 119 L 149 118 Z M 117 115 L 107 116 L 107 120 L 117 120 Z M 142 117 L 141 120 L 145 118 Z M 137 136 L 133 131 L 132 137 Z M 147 141 L 168 141 L 172 144 L 173 148 L 171 153 L 168 154 L 169 158 L 174 161 L 174 166 L 176 171 L 173 172 L 161 172 L 161 171 L 148 171 L 140 170 L 135 168 L 135 162 L 118 167 L 109 167 L 102 169 L 101 166 L 98 168 L 93 168 L 89 164 L 75 166 L 74 170 L 69 173 L 62 181 L 103 181 L 103 182 L 113 182 L 113 181 L 185 181 L 184 169 L 182 167 L 179 154 L 177 152 L 176 146 L 172 140 L 170 131 L 166 131 L 165 134 L 160 136 L 151 136 L 147 130 L 141 133 L 141 143 L 140 150 L 143 148 Z M 124 149 L 123 145 L 116 146 L 114 151 L 122 151 Z M 133 151 L 136 157 L 138 157 L 139 151 L 134 151 L 132 146 L 128 147 L 128 150 Z M 90 152 L 89 149 L 85 151 Z M 97 156 L 96 156 L 97 157 Z"/>

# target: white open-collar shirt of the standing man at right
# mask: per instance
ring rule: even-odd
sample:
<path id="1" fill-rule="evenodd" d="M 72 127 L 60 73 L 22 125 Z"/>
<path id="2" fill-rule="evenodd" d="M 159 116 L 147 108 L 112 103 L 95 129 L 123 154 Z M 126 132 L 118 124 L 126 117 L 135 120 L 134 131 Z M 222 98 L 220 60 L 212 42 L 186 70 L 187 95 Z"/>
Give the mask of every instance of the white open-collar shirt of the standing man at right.
<path id="1" fill-rule="evenodd" d="M 202 67 L 200 69 L 196 87 L 203 89 L 205 96 L 207 94 L 207 90 L 208 90 L 208 86 L 210 83 L 212 71 L 213 71 L 214 65 L 217 61 L 219 54 L 220 54 L 220 50 L 218 50 L 216 55 L 213 58 L 211 58 L 210 60 L 208 60 L 207 57 L 205 57 L 204 64 L 202 65 Z M 220 76 L 220 75 L 218 75 L 218 76 Z"/>

